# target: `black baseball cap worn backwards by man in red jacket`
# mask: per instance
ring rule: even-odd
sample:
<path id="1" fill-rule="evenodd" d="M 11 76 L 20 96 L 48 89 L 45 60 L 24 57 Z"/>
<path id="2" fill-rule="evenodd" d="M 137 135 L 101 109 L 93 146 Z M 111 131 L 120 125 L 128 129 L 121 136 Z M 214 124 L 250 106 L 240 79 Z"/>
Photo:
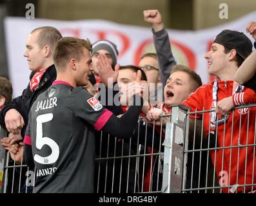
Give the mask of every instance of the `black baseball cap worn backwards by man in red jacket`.
<path id="1" fill-rule="evenodd" d="M 223 30 L 216 36 L 213 43 L 236 50 L 242 59 L 246 59 L 250 55 L 252 48 L 250 39 L 244 33 L 231 30 Z"/>

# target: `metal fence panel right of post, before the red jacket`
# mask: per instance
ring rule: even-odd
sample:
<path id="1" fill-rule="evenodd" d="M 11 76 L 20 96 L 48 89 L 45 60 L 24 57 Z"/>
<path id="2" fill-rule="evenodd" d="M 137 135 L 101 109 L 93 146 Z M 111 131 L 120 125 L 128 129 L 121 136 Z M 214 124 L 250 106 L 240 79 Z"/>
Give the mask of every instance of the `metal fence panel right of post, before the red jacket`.
<path id="1" fill-rule="evenodd" d="M 170 167 L 168 192 L 255 192 L 255 105 L 237 107 L 226 120 L 219 118 L 211 127 L 213 111 L 178 109 L 177 125 L 171 129 L 175 134 L 171 136 L 171 166 L 164 164 Z M 177 175 L 181 147 L 174 142 L 182 136 L 181 178 Z"/>

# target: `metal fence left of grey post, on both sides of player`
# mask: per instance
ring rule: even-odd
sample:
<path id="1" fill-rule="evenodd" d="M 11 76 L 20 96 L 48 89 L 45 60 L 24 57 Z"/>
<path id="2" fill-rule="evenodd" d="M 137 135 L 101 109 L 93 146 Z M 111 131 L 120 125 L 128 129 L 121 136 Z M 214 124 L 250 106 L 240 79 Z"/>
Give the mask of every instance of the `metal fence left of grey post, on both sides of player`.
<path id="1" fill-rule="evenodd" d="M 103 132 L 96 137 L 95 192 L 161 192 L 162 128 L 138 122 L 132 138 L 122 140 Z M 7 133 L 1 135 L 6 136 Z M 97 148 L 98 151 L 97 151 Z M 150 149 L 149 149 L 150 148 Z M 3 155 L 3 191 L 32 192 L 35 171 Z"/>

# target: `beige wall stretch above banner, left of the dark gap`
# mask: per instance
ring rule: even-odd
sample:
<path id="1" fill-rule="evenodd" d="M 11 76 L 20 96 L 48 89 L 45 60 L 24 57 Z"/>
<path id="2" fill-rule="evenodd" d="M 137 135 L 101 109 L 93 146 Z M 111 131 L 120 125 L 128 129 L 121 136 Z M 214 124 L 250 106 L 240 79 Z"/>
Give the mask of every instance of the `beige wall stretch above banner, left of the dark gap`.
<path id="1" fill-rule="evenodd" d="M 143 10 L 157 8 L 169 24 L 168 0 L 40 0 L 38 17 L 49 19 L 105 19 L 146 26 Z"/>

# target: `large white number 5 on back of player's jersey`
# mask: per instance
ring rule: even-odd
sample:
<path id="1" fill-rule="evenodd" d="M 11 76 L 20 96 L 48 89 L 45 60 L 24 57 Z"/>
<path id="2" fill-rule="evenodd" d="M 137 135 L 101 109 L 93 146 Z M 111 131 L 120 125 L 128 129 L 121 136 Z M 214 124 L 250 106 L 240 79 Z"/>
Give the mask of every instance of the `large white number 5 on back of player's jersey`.
<path id="1" fill-rule="evenodd" d="M 42 149 L 43 145 L 46 144 L 52 149 L 52 154 L 50 154 L 49 156 L 44 157 L 35 154 L 34 160 L 35 162 L 38 162 L 40 164 L 53 164 L 59 158 L 59 146 L 57 145 L 57 143 L 54 142 L 54 140 L 52 140 L 51 138 L 43 136 L 43 123 L 50 122 L 52 118 L 54 118 L 54 115 L 52 113 L 39 115 L 37 117 L 35 147 L 37 147 L 37 149 Z"/>

